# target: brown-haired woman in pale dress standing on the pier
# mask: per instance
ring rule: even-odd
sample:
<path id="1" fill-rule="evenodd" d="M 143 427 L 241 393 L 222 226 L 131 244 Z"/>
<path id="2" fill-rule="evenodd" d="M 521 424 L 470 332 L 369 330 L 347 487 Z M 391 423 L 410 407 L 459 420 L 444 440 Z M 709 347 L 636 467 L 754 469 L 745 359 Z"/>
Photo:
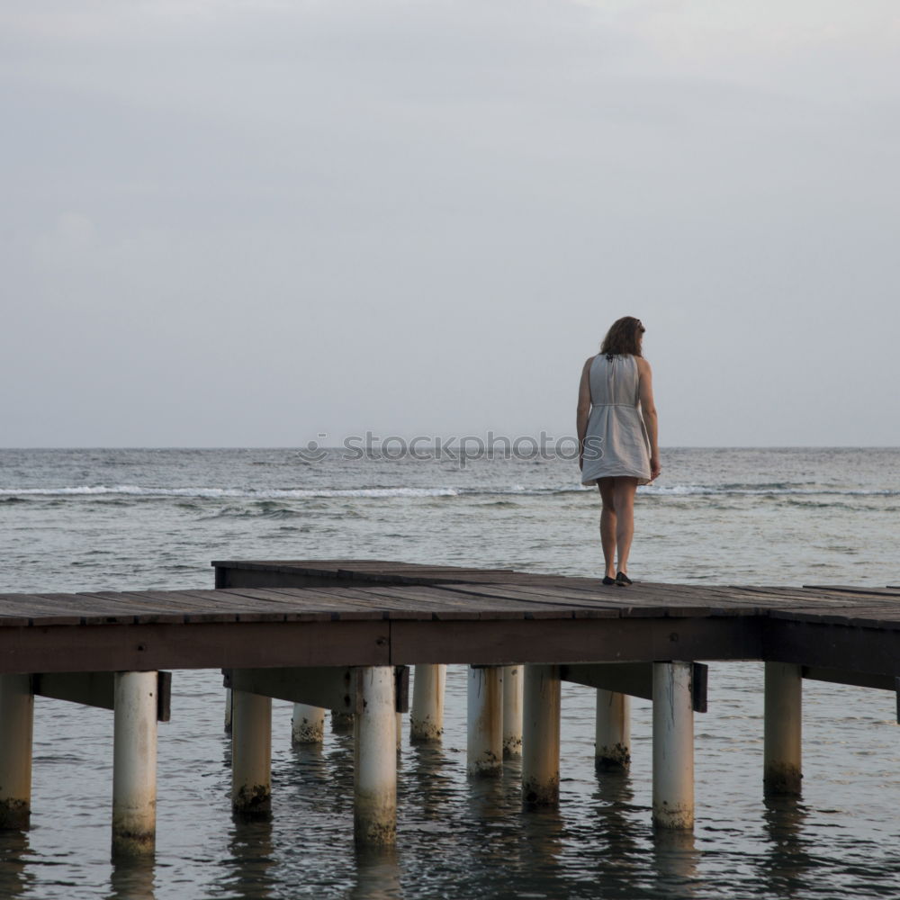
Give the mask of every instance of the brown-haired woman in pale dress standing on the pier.
<path id="1" fill-rule="evenodd" d="M 661 472 L 652 374 L 641 355 L 645 330 L 634 316 L 613 322 L 599 354 L 584 364 L 578 389 L 581 483 L 600 489 L 603 583 L 619 586 L 631 584 L 635 491 Z"/>

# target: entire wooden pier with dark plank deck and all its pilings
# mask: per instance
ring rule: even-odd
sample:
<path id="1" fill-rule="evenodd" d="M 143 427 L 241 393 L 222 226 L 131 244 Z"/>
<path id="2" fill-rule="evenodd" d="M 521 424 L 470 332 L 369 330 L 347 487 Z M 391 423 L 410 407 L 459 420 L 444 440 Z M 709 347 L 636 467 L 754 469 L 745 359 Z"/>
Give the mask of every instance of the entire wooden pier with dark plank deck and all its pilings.
<path id="1" fill-rule="evenodd" d="M 662 828 L 693 824 L 705 662 L 766 663 L 761 780 L 774 793 L 800 789 L 804 679 L 900 686 L 900 588 L 619 588 L 365 560 L 212 564 L 214 590 L 0 594 L 0 827 L 28 826 L 34 697 L 61 698 L 113 710 L 113 852 L 151 852 L 166 670 L 224 671 L 239 815 L 268 808 L 272 698 L 297 705 L 298 742 L 321 740 L 322 710 L 353 714 L 356 840 L 375 844 L 394 841 L 410 666 L 414 741 L 440 740 L 446 664 L 471 667 L 468 769 L 490 776 L 521 752 L 526 807 L 558 802 L 562 681 L 597 689 L 599 769 L 628 764 L 628 698 L 653 699 Z"/>

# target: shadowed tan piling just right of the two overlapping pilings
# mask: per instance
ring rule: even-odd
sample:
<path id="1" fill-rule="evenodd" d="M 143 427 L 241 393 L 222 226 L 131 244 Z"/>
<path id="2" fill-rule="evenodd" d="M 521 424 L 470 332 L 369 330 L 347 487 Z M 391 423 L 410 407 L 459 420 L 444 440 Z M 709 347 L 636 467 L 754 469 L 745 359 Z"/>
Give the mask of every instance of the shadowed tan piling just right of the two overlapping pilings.
<path id="1" fill-rule="evenodd" d="M 525 666 L 522 801 L 556 806 L 560 799 L 559 666 Z"/>

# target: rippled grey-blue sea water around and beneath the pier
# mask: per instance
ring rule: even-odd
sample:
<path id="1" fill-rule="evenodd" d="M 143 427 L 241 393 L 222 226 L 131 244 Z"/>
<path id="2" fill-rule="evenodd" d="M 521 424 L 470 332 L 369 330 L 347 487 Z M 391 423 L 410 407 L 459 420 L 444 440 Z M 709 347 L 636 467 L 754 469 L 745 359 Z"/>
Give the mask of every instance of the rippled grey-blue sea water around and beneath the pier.
<path id="1" fill-rule="evenodd" d="M 571 460 L 347 457 L 0 451 L 0 591 L 210 588 L 211 560 L 241 558 L 602 574 L 597 491 Z M 900 450 L 671 449 L 662 462 L 639 491 L 635 580 L 900 583 Z M 357 854 L 351 739 L 292 749 L 291 707 L 275 702 L 271 821 L 234 821 L 220 673 L 176 671 L 156 860 L 117 866 L 112 716 L 38 698 L 32 827 L 0 833 L 0 897 L 900 896 L 895 696 L 807 682 L 803 797 L 767 801 L 761 686 L 759 663 L 711 663 L 695 833 L 654 834 L 649 703 L 633 701 L 630 773 L 598 776 L 594 694 L 563 686 L 560 807 L 523 813 L 516 763 L 465 775 L 465 671 L 451 666 L 444 743 L 404 737 L 397 849 Z"/>

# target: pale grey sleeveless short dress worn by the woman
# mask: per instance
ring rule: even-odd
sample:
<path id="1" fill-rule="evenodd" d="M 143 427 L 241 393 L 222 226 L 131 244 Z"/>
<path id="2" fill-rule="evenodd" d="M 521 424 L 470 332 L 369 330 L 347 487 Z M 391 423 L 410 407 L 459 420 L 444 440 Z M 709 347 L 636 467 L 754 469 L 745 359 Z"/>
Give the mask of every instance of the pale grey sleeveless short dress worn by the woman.
<path id="1" fill-rule="evenodd" d="M 582 484 L 630 475 L 650 481 L 650 437 L 641 414 L 637 360 L 630 354 L 590 364 L 590 418 L 584 439 Z"/>

